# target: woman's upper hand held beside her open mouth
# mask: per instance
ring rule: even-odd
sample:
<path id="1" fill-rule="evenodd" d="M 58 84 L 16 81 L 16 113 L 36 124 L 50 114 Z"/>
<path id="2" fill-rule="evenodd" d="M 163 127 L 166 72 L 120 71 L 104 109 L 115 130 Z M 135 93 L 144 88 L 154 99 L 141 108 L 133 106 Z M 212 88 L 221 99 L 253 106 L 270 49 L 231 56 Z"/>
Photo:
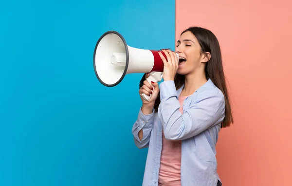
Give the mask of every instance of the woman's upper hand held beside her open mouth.
<path id="1" fill-rule="evenodd" d="M 164 71 L 163 71 L 163 79 L 164 81 L 167 80 L 173 80 L 174 77 L 177 74 L 177 70 L 179 68 L 179 59 L 176 56 L 175 52 L 170 51 L 170 50 L 162 50 L 164 52 L 165 57 L 163 54 L 159 51 L 158 54 L 160 55 L 163 63 L 164 63 Z"/>

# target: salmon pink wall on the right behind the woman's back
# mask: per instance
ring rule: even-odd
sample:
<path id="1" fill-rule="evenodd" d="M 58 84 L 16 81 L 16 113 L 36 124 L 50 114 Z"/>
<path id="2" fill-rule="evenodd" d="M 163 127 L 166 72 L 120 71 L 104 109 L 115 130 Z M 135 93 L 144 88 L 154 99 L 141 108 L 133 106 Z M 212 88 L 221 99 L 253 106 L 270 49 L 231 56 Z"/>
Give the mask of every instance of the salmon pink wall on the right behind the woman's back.
<path id="1" fill-rule="evenodd" d="M 218 37 L 235 123 L 217 145 L 223 186 L 292 186 L 292 2 L 176 0 L 189 26 Z"/>

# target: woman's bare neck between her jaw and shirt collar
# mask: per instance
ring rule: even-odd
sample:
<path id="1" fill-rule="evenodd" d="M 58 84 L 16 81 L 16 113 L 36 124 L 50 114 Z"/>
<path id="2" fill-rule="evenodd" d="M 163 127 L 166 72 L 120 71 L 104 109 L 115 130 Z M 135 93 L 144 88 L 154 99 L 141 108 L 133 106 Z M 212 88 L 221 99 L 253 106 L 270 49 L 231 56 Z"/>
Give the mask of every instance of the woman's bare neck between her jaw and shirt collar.
<path id="1" fill-rule="evenodd" d="M 192 74 L 185 74 L 182 96 L 193 94 L 206 82 L 207 78 L 204 70 L 199 71 L 198 69 L 197 72 Z"/>

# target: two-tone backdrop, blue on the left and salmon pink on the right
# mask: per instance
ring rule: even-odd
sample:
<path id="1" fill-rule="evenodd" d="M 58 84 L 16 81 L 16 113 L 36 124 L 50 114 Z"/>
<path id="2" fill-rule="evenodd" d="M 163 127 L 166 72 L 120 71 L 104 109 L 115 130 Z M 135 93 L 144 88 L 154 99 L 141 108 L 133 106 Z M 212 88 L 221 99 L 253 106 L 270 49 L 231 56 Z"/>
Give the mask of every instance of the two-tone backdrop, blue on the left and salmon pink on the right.
<path id="1" fill-rule="evenodd" d="M 141 186 L 131 128 L 142 74 L 98 82 L 106 31 L 175 49 L 183 29 L 218 37 L 235 124 L 221 130 L 223 186 L 291 186 L 292 6 L 288 0 L 2 0 L 0 186 Z"/>

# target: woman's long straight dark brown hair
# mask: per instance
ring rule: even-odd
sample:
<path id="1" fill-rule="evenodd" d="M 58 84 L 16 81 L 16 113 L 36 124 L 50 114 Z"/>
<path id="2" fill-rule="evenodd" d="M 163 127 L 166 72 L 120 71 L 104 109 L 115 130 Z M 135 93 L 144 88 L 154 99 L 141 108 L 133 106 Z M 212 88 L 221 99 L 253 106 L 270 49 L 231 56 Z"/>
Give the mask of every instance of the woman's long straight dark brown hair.
<path id="1" fill-rule="evenodd" d="M 226 87 L 225 75 L 223 72 L 221 49 L 217 37 L 210 31 L 201 27 L 189 27 L 182 32 L 190 31 L 199 41 L 201 53 L 209 52 L 211 59 L 206 63 L 205 74 L 207 79 L 210 78 L 216 87 L 224 94 L 225 97 L 225 117 L 222 121 L 221 128 L 229 127 L 233 123 L 231 105 L 229 102 L 229 94 Z M 182 35 L 181 34 L 181 35 Z M 184 75 L 176 74 L 174 79 L 176 89 L 178 90 L 184 84 Z M 154 104 L 155 112 L 158 111 L 160 104 L 160 93 Z"/>

